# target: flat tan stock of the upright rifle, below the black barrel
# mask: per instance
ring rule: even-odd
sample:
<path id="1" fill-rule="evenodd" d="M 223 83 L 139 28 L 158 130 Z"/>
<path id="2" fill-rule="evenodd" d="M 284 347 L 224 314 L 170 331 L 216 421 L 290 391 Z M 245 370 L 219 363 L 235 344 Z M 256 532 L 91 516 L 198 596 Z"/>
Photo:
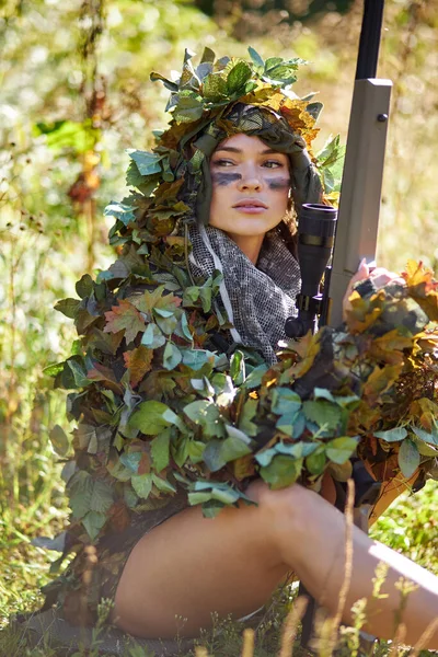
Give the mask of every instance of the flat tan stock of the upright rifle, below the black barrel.
<path id="1" fill-rule="evenodd" d="M 342 323 L 342 303 L 359 262 L 376 258 L 391 80 L 356 80 L 335 249 L 330 280 L 328 324 Z"/>

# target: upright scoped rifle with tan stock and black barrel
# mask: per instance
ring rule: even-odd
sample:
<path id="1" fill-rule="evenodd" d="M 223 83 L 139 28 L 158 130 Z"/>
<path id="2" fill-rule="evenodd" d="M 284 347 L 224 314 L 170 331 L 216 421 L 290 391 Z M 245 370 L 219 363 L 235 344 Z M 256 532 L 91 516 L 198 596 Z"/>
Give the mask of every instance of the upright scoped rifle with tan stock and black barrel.
<path id="1" fill-rule="evenodd" d="M 298 256 L 301 293 L 298 318 L 289 318 L 290 337 L 320 326 L 342 323 L 343 298 L 359 262 L 376 258 L 383 162 L 392 82 L 376 78 L 384 0 L 365 0 L 355 89 L 348 127 L 338 216 L 334 208 L 304 205 L 298 220 Z M 334 243 L 332 265 L 326 266 Z M 316 275 L 315 275 L 316 272 Z M 324 273 L 324 291 L 320 291 Z M 368 532 L 369 514 L 380 492 L 361 461 L 353 460 L 355 523 Z M 339 488 L 339 487 L 338 487 Z M 344 510 L 345 495 L 337 491 L 336 506 Z M 299 595 L 309 598 L 302 621 L 301 645 L 311 637 L 315 600 L 300 584 Z M 373 643 L 373 637 L 364 636 Z"/>

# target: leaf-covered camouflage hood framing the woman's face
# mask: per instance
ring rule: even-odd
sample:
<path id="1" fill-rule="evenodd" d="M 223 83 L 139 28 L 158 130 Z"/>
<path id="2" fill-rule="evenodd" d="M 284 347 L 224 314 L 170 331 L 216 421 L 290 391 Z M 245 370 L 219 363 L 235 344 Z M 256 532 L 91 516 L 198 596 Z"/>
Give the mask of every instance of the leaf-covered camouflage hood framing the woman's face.
<path id="1" fill-rule="evenodd" d="M 252 48 L 251 61 L 216 60 L 206 48 L 194 67 L 192 55 L 186 50 L 175 81 L 151 74 L 171 91 L 166 110 L 172 119 L 164 132 L 155 132 L 152 153 L 130 152 L 127 182 L 143 195 L 140 205 L 150 232 L 169 234 L 182 220 L 208 223 L 209 158 L 224 138 L 238 132 L 260 137 L 289 155 L 296 209 L 304 201 L 321 200 L 321 174 L 308 150 L 318 134 L 314 124 L 322 104 L 299 99 L 289 89 L 302 60 L 272 57 L 264 62 Z M 138 200 L 125 199 L 125 212 L 129 214 L 126 206 L 138 207 Z"/>

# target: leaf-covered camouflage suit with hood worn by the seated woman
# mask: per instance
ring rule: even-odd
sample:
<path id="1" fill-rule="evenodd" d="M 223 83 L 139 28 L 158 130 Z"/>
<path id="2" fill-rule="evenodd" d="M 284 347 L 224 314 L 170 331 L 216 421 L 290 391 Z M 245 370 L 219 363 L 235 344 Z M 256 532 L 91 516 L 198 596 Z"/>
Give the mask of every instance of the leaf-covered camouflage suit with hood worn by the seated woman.
<path id="1" fill-rule="evenodd" d="M 308 154 L 320 106 L 289 90 L 298 60 L 250 54 L 215 61 L 207 49 L 196 69 L 186 56 L 178 81 L 152 76 L 171 91 L 172 120 L 152 153 L 130 153 L 137 191 L 106 210 L 119 257 L 96 280 L 81 278 L 79 300 L 57 306 L 81 336 L 53 372 L 76 390 L 59 564 L 76 556 L 46 587 L 46 604 L 60 601 L 76 623 L 95 621 L 135 542 L 187 504 L 207 517 L 252 504 L 254 477 L 318 491 L 327 470 L 345 481 L 355 453 L 381 480 L 424 477 L 438 453 L 429 273 L 410 264 L 405 286 L 358 288 L 346 324 L 285 342 L 275 356 L 299 289 L 290 226 L 267 235 L 257 266 L 206 226 L 209 155 L 233 134 L 289 155 L 296 206 L 320 200 L 322 173 L 331 192 L 330 170 Z"/>

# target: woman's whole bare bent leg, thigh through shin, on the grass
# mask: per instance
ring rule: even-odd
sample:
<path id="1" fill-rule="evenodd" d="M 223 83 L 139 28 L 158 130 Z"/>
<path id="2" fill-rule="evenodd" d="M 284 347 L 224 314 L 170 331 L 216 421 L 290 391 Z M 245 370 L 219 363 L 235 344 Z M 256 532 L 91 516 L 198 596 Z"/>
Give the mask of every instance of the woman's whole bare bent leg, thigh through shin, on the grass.
<path id="1" fill-rule="evenodd" d="M 171 518 L 137 544 L 117 589 L 117 624 L 139 636 L 173 637 L 175 614 L 187 619 L 181 634 L 194 636 L 210 625 L 210 613 L 247 614 L 265 603 L 287 572 L 295 570 L 330 612 L 337 610 L 344 580 L 345 517 L 327 502 L 295 485 L 269 491 L 254 482 L 249 495 L 258 507 L 242 505 L 205 519 L 198 508 Z M 343 620 L 359 598 L 370 598 L 379 562 L 389 572 L 383 600 L 371 600 L 367 630 L 394 634 L 404 576 L 418 585 L 410 595 L 403 622 L 414 644 L 438 615 L 438 577 L 354 528 L 354 569 Z M 438 633 L 428 646 L 438 647 Z"/>

